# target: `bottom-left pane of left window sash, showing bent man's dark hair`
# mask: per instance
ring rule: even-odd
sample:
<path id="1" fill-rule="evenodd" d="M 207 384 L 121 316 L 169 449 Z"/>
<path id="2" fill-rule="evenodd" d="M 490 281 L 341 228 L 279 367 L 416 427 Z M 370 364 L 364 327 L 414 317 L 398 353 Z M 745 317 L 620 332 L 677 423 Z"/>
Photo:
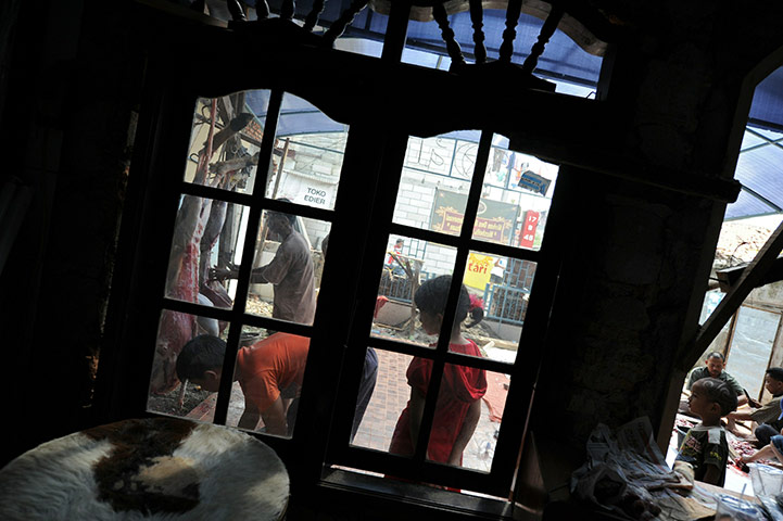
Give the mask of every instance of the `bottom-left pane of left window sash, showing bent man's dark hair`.
<path id="1" fill-rule="evenodd" d="M 147 409 L 212 421 L 214 397 L 211 397 L 211 393 L 219 385 L 223 355 L 218 353 L 213 357 L 212 363 L 217 368 L 217 372 L 212 374 L 215 378 L 207 379 L 203 370 L 192 369 L 188 364 L 199 344 L 191 340 L 197 336 L 207 338 L 209 333 L 205 331 L 215 331 L 218 336 L 209 335 L 209 338 L 217 340 L 219 344 L 225 342 L 228 329 L 227 325 L 209 317 L 163 309 L 157 327 Z M 186 351 L 186 355 L 181 356 L 181 361 L 178 361 L 182 351 Z M 180 372 L 184 372 L 181 381 Z"/>

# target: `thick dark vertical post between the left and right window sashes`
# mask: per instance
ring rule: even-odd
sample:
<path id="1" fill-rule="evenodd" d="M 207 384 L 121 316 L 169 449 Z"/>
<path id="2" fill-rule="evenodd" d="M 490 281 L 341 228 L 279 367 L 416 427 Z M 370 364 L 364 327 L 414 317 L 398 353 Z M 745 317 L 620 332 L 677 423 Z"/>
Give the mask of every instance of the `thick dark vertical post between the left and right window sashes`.
<path id="1" fill-rule="evenodd" d="M 397 131 L 374 132 L 372 129 L 361 125 L 353 126 L 350 134 L 343 171 L 346 179 L 345 187 L 351 183 L 356 191 L 345 188 L 339 192 L 334 204 L 337 216 L 329 239 L 329 250 L 343 252 L 355 250 L 356 255 L 350 256 L 355 264 L 343 262 L 342 265 L 326 267 L 325 274 L 327 274 L 326 269 L 330 270 L 329 280 L 321 283 L 321 295 L 327 296 L 332 291 L 334 280 L 340 277 L 340 271 L 334 270 L 342 269 L 342 282 L 334 284 L 334 291 L 338 291 L 339 300 L 343 305 L 323 313 L 324 316 L 328 316 L 330 323 L 329 342 L 334 343 L 334 323 L 339 321 L 344 323 L 345 328 L 344 334 L 337 334 L 338 338 L 345 339 L 346 354 L 340 369 L 342 374 L 338 390 L 339 399 L 336 401 L 340 405 L 334 407 L 327 456 L 327 461 L 338 462 L 344 458 L 348 448 L 351 423 L 355 414 L 353 404 L 359 385 L 358 377 L 364 365 L 365 350 L 372 342 L 368 339 L 374 307 L 369 303 L 376 301 L 372 288 L 378 287 L 380 276 L 377 258 L 382 256 L 386 249 L 386 241 L 377 230 L 386 227 L 391 220 L 394 207 L 392 194 L 396 194 L 399 188 L 395 169 L 403 162 L 407 143 L 407 136 Z M 357 199 L 356 193 L 366 193 L 367 196 Z M 324 284 L 329 284 L 329 288 Z M 351 309 L 350 316 L 346 317 L 344 309 Z M 318 318 L 316 316 L 316 321 Z M 326 332 L 326 329 L 318 331 Z"/>

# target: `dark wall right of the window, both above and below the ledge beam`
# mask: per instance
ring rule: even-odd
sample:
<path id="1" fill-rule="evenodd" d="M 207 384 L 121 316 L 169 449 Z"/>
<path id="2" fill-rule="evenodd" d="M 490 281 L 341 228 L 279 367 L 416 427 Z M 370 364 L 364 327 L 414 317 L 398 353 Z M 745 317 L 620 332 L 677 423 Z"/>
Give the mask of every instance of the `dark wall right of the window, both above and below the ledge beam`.
<path id="1" fill-rule="evenodd" d="M 603 93 L 622 115 L 615 152 L 629 177 L 668 176 L 681 191 L 564 170 L 573 187 L 572 233 L 534 430 L 548 433 L 557 420 L 555 436 L 582 445 L 598 421 L 618 427 L 648 416 L 658 428 L 673 410 L 683 369 L 695 363 L 683 355 L 723 216 L 716 180 L 733 177 L 747 117 L 743 78 L 781 45 L 769 25 L 782 20 L 780 9 L 767 11 L 769 20 L 760 14 L 703 2 L 624 13 L 634 29 Z M 689 179 L 696 183 L 681 182 Z"/>

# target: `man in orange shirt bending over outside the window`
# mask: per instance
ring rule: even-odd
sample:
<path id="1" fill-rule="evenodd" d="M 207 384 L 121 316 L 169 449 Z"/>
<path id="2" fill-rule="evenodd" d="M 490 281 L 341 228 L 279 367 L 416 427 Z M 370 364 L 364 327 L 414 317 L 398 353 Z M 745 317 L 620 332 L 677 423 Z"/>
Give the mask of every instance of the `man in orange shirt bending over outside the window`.
<path id="1" fill-rule="evenodd" d="M 233 381 L 239 381 L 244 394 L 241 429 L 255 430 L 262 419 L 267 433 L 291 434 L 308 350 L 310 339 L 290 333 L 275 333 L 239 350 Z M 179 353 L 177 376 L 216 392 L 225 356 L 222 339 L 197 336 Z"/>

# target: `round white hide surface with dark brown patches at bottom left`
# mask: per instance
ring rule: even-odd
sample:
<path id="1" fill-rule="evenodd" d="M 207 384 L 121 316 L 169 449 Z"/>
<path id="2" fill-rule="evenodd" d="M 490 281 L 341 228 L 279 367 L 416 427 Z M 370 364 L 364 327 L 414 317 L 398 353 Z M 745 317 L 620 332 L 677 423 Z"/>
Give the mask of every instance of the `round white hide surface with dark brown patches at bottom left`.
<path id="1" fill-rule="evenodd" d="M 271 448 L 174 418 L 77 432 L 0 470 L 1 520 L 276 521 L 288 495 L 288 473 Z"/>

